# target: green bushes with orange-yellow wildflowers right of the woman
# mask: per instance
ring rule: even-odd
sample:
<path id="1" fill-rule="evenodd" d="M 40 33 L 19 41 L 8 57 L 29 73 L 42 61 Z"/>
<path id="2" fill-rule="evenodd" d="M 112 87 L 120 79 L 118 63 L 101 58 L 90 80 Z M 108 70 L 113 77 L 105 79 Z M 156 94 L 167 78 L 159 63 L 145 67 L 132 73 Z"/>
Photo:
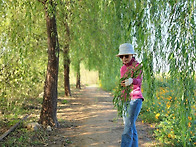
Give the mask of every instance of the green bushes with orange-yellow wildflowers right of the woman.
<path id="1" fill-rule="evenodd" d="M 154 101 L 151 102 L 146 97 L 140 117 L 143 121 L 156 123 L 156 138 L 164 145 L 194 146 L 196 92 L 193 89 L 196 81 L 189 81 L 187 88 L 184 88 L 182 83 L 180 85 L 177 79 L 175 82 L 177 85 L 174 86 L 172 78 L 156 78 Z M 189 89 L 189 92 L 182 89 Z M 181 92 L 187 92 L 189 97 L 179 97 Z"/>

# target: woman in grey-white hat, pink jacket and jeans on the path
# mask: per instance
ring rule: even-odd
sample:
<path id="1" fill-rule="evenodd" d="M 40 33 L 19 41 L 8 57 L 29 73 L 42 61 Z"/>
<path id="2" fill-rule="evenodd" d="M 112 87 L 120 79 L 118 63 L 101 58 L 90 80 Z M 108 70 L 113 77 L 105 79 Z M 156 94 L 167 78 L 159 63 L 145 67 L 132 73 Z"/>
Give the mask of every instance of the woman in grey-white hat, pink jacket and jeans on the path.
<path id="1" fill-rule="evenodd" d="M 140 68 L 136 77 L 131 78 L 131 76 L 127 76 L 129 75 L 127 73 L 129 72 L 129 69 L 141 67 L 141 65 L 135 60 L 135 57 L 133 57 L 135 54 L 132 45 L 124 43 L 120 45 L 119 54 L 117 55 L 121 58 L 122 63 L 124 64 L 120 69 L 121 78 L 126 78 L 121 82 L 121 86 L 129 86 L 132 89 L 130 97 L 126 98 L 126 96 L 124 96 L 124 100 L 126 100 L 124 103 L 124 131 L 122 134 L 121 147 L 138 147 L 138 136 L 135 122 L 141 110 L 142 101 L 144 100 L 141 92 L 142 69 Z"/>

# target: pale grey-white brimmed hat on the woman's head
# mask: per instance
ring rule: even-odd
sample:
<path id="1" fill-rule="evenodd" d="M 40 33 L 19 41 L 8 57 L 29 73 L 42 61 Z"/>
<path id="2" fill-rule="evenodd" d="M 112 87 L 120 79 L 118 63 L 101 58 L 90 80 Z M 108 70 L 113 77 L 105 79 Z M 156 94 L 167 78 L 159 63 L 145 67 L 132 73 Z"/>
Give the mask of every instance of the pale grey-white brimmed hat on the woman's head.
<path id="1" fill-rule="evenodd" d="M 136 54 L 133 46 L 130 43 L 123 43 L 119 46 L 119 53 L 116 56 L 119 57 L 120 55 L 130 55 L 130 54 L 133 55 Z"/>

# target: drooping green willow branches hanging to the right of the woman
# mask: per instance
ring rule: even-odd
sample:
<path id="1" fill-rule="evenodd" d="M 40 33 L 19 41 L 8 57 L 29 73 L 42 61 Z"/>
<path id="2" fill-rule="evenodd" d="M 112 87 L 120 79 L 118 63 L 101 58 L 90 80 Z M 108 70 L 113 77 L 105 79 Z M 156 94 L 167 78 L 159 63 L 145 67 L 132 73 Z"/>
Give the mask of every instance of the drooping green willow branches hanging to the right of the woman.
<path id="1" fill-rule="evenodd" d="M 155 74 L 161 74 L 168 84 L 171 100 L 163 107 L 169 105 L 170 113 L 163 115 L 159 139 L 163 142 L 173 139 L 175 145 L 191 146 L 194 140 L 191 124 L 195 120 L 192 106 L 195 104 L 196 3 L 192 0 L 124 0 L 118 4 L 122 36 L 125 40 L 130 38 L 143 61 L 147 107 L 160 103 L 155 95 L 159 88 L 155 85 Z M 156 111 L 156 107 L 150 111 Z M 173 117 L 179 119 L 173 120 Z M 175 134 L 172 139 L 167 131 Z"/>

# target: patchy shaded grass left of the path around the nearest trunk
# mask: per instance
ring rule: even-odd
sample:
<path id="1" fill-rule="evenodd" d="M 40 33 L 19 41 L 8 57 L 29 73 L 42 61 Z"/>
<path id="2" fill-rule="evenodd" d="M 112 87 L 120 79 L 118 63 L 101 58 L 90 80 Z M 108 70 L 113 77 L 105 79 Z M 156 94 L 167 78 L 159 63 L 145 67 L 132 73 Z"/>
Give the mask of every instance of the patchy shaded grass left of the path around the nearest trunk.
<path id="1" fill-rule="evenodd" d="M 72 90 L 75 90 L 75 86 L 72 85 Z M 62 91 L 59 91 L 62 93 Z M 61 94 L 60 94 L 61 95 Z M 61 142 L 64 145 L 70 144 L 70 140 L 63 137 L 58 136 L 58 130 L 55 131 L 47 131 L 45 129 L 39 128 L 37 131 L 28 130 L 26 128 L 27 124 L 30 122 L 37 122 L 39 119 L 40 109 L 41 109 L 42 97 L 28 99 L 28 102 L 25 105 L 17 105 L 18 111 L 17 114 L 13 115 L 13 111 L 9 111 L 4 113 L 4 115 L 0 116 L 0 133 L 3 134 L 6 132 L 11 126 L 15 125 L 19 122 L 19 118 L 22 114 L 31 113 L 30 118 L 27 121 L 23 122 L 19 125 L 13 132 L 11 132 L 7 137 L 5 137 L 2 141 L 0 141 L 1 147 L 13 146 L 48 146 L 48 144 L 55 144 L 54 142 Z M 66 99 L 59 99 L 58 103 L 66 104 L 68 101 Z M 20 114 L 20 115 L 19 115 Z M 58 136 L 58 137 L 56 137 Z"/>

